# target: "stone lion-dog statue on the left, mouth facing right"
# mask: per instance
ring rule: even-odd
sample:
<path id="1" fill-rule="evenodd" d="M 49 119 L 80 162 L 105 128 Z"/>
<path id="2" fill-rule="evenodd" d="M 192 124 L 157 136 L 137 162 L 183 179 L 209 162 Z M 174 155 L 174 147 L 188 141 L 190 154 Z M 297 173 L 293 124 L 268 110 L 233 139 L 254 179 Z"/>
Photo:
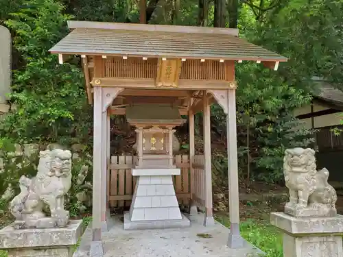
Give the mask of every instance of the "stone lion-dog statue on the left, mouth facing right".
<path id="1" fill-rule="evenodd" d="M 21 193 L 10 203 L 10 212 L 16 218 L 14 228 L 64 227 L 69 212 L 64 210 L 64 195 L 71 187 L 71 151 L 54 149 L 40 151 L 36 177 L 21 176 Z M 51 217 L 43 212 L 49 206 Z"/>

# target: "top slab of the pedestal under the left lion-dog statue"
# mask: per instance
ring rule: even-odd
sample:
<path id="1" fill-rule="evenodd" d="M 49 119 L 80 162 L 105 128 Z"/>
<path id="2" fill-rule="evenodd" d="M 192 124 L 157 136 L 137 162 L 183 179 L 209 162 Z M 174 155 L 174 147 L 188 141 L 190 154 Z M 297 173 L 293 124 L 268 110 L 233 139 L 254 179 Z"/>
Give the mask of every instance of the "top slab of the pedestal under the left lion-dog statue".
<path id="1" fill-rule="evenodd" d="M 82 220 L 71 220 L 66 228 L 14 230 L 11 224 L 0 230 L 0 249 L 76 245 L 82 232 Z"/>

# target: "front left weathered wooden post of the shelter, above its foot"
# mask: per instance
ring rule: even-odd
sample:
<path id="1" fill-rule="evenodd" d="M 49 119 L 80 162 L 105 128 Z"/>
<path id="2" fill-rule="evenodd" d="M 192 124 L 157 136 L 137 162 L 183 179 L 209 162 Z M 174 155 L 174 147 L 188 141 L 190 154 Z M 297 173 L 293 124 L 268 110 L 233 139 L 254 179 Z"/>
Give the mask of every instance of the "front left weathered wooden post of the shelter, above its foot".
<path id="1" fill-rule="evenodd" d="M 102 87 L 94 87 L 92 241 L 102 240 Z"/>

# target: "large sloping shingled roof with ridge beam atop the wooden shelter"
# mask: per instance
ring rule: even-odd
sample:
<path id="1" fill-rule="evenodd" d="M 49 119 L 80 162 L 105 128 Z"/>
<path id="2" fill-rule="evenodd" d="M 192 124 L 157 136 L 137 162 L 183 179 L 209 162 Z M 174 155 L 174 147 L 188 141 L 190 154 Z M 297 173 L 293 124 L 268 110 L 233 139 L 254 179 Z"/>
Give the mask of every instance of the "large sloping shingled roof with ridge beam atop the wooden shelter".
<path id="1" fill-rule="evenodd" d="M 238 37 L 237 29 L 69 21 L 73 29 L 49 51 L 59 54 L 285 62 Z"/>

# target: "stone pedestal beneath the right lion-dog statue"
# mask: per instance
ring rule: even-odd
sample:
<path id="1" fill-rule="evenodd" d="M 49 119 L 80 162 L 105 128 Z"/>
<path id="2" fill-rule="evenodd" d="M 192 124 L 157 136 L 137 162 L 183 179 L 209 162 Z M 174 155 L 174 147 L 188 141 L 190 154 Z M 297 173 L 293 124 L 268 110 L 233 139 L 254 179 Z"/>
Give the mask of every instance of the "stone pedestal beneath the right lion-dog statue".
<path id="1" fill-rule="evenodd" d="M 283 231 L 283 256 L 343 257 L 343 216 L 292 217 L 271 214 L 272 225 Z"/>

